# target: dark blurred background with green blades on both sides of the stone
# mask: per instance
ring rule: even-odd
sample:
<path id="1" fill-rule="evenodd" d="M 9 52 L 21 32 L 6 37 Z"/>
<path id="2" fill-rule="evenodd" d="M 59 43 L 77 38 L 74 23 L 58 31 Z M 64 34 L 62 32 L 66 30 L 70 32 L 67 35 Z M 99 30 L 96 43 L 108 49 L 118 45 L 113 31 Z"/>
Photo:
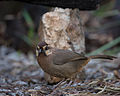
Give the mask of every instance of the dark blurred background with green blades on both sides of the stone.
<path id="1" fill-rule="evenodd" d="M 120 36 L 119 4 L 119 0 L 107 0 L 96 11 L 81 11 L 82 23 L 86 28 L 87 53 Z M 24 53 L 33 52 L 39 41 L 40 18 L 49 10 L 50 7 L 40 5 L 13 1 L 0 2 L 0 46 L 9 46 Z M 111 52 L 109 49 L 112 49 Z M 118 43 L 102 49 L 106 54 L 116 54 L 119 51 Z"/>

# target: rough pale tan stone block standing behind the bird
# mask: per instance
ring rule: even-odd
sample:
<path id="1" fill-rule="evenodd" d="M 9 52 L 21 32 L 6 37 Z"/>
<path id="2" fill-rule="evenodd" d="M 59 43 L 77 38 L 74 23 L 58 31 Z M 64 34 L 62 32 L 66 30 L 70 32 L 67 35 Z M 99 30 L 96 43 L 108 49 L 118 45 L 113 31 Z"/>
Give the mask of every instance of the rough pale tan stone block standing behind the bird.
<path id="1" fill-rule="evenodd" d="M 43 15 L 40 27 L 40 41 L 47 42 L 51 47 L 67 49 L 79 54 L 85 52 L 84 28 L 81 23 L 80 11 L 77 9 L 55 8 Z M 85 78 L 81 72 L 78 77 Z M 60 79 L 47 76 L 47 81 L 57 82 Z"/>

